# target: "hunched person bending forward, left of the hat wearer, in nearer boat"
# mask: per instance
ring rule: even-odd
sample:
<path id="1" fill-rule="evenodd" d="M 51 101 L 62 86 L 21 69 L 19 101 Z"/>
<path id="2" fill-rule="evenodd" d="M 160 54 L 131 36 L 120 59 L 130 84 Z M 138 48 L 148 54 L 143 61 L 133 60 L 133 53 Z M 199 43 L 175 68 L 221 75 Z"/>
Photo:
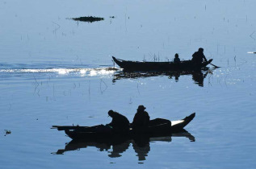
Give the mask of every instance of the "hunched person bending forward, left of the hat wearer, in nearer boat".
<path id="1" fill-rule="evenodd" d="M 112 117 L 112 122 L 108 125 L 112 127 L 114 132 L 128 132 L 130 122 L 124 115 L 114 112 L 113 110 L 108 111 L 108 115 Z"/>

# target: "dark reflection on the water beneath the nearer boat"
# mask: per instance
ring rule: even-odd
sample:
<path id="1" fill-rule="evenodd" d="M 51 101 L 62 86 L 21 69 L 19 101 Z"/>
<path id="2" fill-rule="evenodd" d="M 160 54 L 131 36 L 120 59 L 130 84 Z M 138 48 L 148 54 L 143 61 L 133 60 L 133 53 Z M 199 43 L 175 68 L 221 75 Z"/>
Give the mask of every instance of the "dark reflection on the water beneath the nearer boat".
<path id="1" fill-rule="evenodd" d="M 150 142 L 171 142 L 172 138 L 184 137 L 188 138 L 191 142 L 195 142 L 195 137 L 183 130 L 182 132 L 169 134 L 165 136 L 149 138 L 146 136 L 138 136 L 133 138 L 106 138 L 106 139 L 88 139 L 88 140 L 72 140 L 66 144 L 65 149 L 57 150 L 56 155 L 63 155 L 69 150 L 79 150 L 81 148 L 87 148 L 94 146 L 99 149 L 99 151 L 107 151 L 110 158 L 121 157 L 124 151 L 128 150 L 129 146 L 132 144 L 133 149 L 136 152 L 136 156 L 139 161 L 144 161 L 146 156 L 148 156 L 150 151 Z"/>

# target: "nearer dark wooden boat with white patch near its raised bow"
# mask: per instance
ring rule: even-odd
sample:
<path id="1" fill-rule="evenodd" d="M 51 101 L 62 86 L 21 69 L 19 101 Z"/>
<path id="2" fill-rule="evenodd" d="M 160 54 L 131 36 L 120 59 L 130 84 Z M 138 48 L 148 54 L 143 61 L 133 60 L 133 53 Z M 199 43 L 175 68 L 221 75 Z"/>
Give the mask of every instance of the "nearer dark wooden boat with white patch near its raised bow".
<path id="1" fill-rule="evenodd" d="M 127 133 L 114 133 L 110 127 L 99 126 L 52 126 L 52 129 L 65 130 L 65 134 L 72 139 L 103 139 L 112 137 L 132 138 L 136 135 L 147 135 L 154 137 L 162 134 L 172 134 L 183 131 L 189 122 L 193 120 L 195 113 L 183 118 L 182 120 L 172 121 L 156 118 L 149 122 L 147 130 L 132 130 L 132 127 Z"/>

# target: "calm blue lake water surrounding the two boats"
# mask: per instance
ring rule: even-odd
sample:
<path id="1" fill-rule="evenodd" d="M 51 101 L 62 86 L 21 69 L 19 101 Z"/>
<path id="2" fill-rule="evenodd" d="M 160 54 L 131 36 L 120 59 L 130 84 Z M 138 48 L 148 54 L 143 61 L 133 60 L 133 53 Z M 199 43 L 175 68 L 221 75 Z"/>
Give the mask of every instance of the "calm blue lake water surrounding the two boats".
<path id="1" fill-rule="evenodd" d="M 0 168 L 254 168 L 256 55 L 248 52 L 256 51 L 255 6 L 254 0 L 0 0 Z M 104 20 L 71 19 L 90 15 Z M 189 60 L 199 47 L 221 67 L 199 79 L 107 70 L 111 56 L 166 61 L 178 53 Z M 89 142 L 57 155 L 71 139 L 52 125 L 106 124 L 109 109 L 132 122 L 138 105 L 152 119 L 195 112 L 186 127 L 191 135 L 142 147 Z"/>

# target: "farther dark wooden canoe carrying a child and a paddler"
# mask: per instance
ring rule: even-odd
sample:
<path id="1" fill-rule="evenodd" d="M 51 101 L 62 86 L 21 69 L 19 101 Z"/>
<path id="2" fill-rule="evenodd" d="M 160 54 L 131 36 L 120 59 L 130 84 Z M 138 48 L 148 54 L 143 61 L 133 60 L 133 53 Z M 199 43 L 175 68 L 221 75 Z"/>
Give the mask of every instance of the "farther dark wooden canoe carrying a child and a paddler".
<path id="1" fill-rule="evenodd" d="M 200 70 L 211 64 L 212 59 L 201 64 L 195 64 L 191 60 L 183 60 L 180 63 L 174 62 L 138 62 L 120 60 L 112 56 L 116 64 L 126 71 L 177 71 L 177 70 Z"/>

